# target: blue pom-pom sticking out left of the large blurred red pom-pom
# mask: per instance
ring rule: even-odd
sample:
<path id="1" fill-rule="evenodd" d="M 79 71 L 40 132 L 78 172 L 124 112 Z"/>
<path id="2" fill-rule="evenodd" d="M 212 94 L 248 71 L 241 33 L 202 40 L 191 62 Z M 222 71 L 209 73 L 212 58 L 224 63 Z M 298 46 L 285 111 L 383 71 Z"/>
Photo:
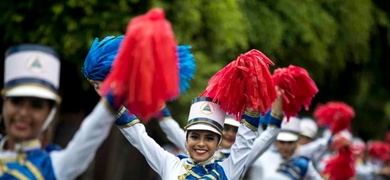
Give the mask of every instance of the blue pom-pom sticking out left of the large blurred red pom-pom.
<path id="1" fill-rule="evenodd" d="M 106 79 L 123 37 L 123 35 L 107 36 L 100 42 L 98 38 L 95 38 L 81 70 L 85 77 L 95 81 Z"/>

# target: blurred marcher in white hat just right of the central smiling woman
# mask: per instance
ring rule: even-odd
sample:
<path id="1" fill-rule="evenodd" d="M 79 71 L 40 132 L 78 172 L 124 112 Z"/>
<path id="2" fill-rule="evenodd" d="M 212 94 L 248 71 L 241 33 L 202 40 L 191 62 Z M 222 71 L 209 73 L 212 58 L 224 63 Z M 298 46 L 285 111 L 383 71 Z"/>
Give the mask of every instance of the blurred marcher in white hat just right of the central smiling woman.
<path id="1" fill-rule="evenodd" d="M 250 166 L 248 180 L 275 178 L 276 172 L 291 179 L 322 179 L 310 159 L 297 152 L 300 128 L 299 118 L 284 118 L 275 145 Z"/>

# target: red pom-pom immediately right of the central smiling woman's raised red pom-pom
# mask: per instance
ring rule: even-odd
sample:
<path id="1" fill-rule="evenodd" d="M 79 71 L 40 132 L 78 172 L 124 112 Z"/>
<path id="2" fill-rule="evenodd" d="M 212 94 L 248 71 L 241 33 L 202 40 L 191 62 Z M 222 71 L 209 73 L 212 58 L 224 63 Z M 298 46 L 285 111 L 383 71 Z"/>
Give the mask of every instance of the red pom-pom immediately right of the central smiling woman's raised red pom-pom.
<path id="1" fill-rule="evenodd" d="M 297 116 L 302 106 L 306 111 L 309 110 L 318 88 L 305 69 L 293 65 L 278 68 L 272 78 L 275 85 L 284 90 L 283 112 L 287 120 L 291 116 Z"/>

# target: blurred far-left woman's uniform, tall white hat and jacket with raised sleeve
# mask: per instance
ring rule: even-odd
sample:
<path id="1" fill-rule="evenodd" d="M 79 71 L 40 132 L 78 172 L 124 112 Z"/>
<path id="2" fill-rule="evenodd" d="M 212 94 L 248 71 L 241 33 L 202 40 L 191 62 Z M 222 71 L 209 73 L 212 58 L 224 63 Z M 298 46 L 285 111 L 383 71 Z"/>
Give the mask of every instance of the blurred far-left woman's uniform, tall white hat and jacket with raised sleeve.
<path id="1" fill-rule="evenodd" d="M 39 44 L 22 44 L 7 50 L 4 64 L 3 97 L 36 97 L 55 102 L 40 129 L 44 132 L 61 101 L 57 52 Z M 115 119 L 112 108 L 101 100 L 61 150 L 42 148 L 39 137 L 9 149 L 6 145 L 11 137 L 5 135 L 0 141 L 0 179 L 75 179 L 88 168 Z"/>

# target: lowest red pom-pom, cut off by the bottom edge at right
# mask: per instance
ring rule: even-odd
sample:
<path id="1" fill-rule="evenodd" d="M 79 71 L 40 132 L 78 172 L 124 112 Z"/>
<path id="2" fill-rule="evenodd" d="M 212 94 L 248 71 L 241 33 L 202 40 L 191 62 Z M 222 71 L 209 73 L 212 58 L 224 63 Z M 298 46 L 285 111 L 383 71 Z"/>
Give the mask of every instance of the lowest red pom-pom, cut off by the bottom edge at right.
<path id="1" fill-rule="evenodd" d="M 346 180 L 355 176 L 355 160 L 350 147 L 338 150 L 338 154 L 327 160 L 322 172 L 329 180 Z"/>

